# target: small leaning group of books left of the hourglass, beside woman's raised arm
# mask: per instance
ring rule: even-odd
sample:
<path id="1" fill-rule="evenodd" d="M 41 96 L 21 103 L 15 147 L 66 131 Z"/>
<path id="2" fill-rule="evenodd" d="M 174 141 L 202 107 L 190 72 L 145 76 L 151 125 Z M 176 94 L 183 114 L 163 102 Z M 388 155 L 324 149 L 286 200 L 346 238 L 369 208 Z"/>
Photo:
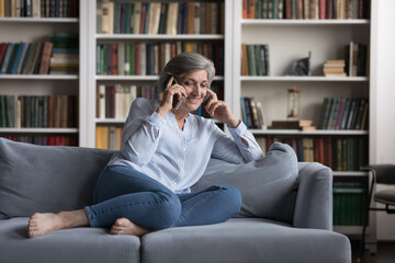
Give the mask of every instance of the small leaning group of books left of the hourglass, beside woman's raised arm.
<path id="1" fill-rule="evenodd" d="M 240 98 L 241 119 L 249 129 L 264 129 L 267 124 L 262 104 L 250 96 Z"/>

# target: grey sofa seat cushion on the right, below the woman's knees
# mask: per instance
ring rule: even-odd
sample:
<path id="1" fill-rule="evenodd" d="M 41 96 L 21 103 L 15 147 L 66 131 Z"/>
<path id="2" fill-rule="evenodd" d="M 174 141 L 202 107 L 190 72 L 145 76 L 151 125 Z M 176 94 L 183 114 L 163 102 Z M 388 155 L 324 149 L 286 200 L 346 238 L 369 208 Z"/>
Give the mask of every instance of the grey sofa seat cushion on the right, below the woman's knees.
<path id="1" fill-rule="evenodd" d="M 170 228 L 142 238 L 144 263 L 351 263 L 351 248 L 343 235 L 292 228 L 259 218 Z"/>

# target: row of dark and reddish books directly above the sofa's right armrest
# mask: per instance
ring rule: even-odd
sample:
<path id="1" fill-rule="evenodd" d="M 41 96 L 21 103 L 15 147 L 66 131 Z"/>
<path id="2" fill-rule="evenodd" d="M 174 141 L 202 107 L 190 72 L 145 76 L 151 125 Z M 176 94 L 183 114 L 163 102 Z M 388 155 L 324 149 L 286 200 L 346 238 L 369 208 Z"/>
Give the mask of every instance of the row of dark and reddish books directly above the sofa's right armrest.
<path id="1" fill-rule="evenodd" d="M 256 136 L 263 152 L 274 141 L 290 145 L 298 161 L 319 162 L 334 171 L 359 171 L 368 163 L 368 140 L 363 137 Z"/>

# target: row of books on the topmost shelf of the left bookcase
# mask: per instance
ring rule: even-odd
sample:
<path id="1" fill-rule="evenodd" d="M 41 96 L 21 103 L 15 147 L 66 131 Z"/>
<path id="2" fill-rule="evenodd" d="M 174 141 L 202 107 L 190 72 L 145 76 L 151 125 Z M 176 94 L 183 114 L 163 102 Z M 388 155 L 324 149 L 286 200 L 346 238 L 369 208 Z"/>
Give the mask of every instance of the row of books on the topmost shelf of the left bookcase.
<path id="1" fill-rule="evenodd" d="M 78 0 L 0 0 L 0 18 L 78 18 Z"/>

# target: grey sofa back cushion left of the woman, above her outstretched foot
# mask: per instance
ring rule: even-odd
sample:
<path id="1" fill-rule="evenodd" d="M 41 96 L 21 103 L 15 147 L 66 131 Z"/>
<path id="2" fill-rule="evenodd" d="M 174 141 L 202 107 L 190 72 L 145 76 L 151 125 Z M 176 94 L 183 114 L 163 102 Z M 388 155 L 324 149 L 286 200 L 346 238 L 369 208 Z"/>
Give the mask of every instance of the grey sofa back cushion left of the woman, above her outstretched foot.
<path id="1" fill-rule="evenodd" d="M 82 208 L 112 155 L 0 138 L 0 218 Z"/>

